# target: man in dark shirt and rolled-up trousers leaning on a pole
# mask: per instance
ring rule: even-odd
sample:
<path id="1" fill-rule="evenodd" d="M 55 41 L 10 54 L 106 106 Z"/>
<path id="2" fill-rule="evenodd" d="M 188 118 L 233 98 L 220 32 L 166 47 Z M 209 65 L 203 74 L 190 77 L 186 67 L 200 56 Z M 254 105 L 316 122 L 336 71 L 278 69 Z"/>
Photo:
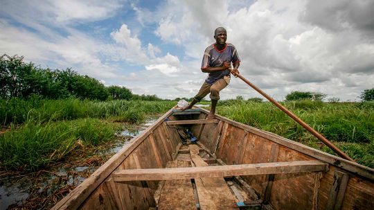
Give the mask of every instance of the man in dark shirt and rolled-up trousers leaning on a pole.
<path id="1" fill-rule="evenodd" d="M 195 103 L 211 93 L 211 112 L 209 112 L 207 119 L 214 119 L 215 107 L 218 100 L 220 100 L 220 91 L 229 85 L 230 72 L 234 76 L 239 74 L 238 67 L 240 65 L 240 58 L 235 46 L 231 43 L 226 43 L 226 29 L 222 27 L 215 29 L 214 39 L 215 44 L 211 44 L 211 46 L 206 48 L 202 60 L 202 72 L 208 73 L 208 77 L 193 98 L 193 101 L 181 109 L 192 108 Z M 233 64 L 233 69 L 231 69 L 231 63 Z"/>

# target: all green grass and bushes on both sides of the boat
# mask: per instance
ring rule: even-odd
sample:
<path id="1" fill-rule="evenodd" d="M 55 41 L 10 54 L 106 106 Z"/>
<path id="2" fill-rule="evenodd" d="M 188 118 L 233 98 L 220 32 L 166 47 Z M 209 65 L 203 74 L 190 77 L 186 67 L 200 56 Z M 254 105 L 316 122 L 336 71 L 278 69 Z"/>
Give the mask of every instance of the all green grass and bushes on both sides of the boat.
<path id="1" fill-rule="evenodd" d="M 111 141 L 118 123 L 141 123 L 176 104 L 156 95 L 105 87 L 71 69 L 42 69 L 17 55 L 0 57 L 0 168 L 37 170 L 83 147 Z M 374 89 L 362 103 L 339 103 L 326 94 L 293 91 L 283 103 L 359 164 L 374 168 Z M 176 98 L 175 100 L 191 98 Z M 312 99 L 312 100 L 310 100 Z M 204 104 L 209 104 L 204 100 Z M 262 98 L 222 100 L 218 114 L 333 153 L 312 134 Z"/>

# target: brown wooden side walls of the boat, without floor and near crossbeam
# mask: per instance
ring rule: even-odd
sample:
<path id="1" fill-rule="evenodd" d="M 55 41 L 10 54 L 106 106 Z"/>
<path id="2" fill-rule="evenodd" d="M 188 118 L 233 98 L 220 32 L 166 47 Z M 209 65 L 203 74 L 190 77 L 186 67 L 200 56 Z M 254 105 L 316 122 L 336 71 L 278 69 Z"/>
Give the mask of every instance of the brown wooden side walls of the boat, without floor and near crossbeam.
<path id="1" fill-rule="evenodd" d="M 241 186 L 247 186 L 247 190 L 252 190 L 256 194 L 248 195 L 251 197 L 253 207 L 259 205 L 273 209 L 368 209 L 368 207 L 374 207 L 373 169 L 222 116 L 216 116 L 215 121 L 206 121 L 204 119 L 207 114 L 208 112 L 201 108 L 187 112 L 169 110 L 150 128 L 132 139 L 128 146 L 98 168 L 80 186 L 66 195 L 53 209 L 150 209 L 156 207 L 160 209 L 157 193 L 159 193 L 160 184 L 164 181 L 134 179 L 117 182 L 115 173 L 127 169 L 165 168 L 168 163 L 170 164 L 186 152 L 186 149 L 181 149 L 186 147 L 182 146 L 181 129 L 190 130 L 199 140 L 198 145 L 208 154 L 207 156 L 216 159 L 220 165 L 287 161 L 321 161 L 326 164 L 328 170 L 317 172 L 238 176 L 239 181 L 237 179 L 236 182 L 244 182 Z M 191 161 L 193 154 L 185 156 L 186 161 L 190 163 L 189 166 L 194 165 L 194 161 Z M 204 161 L 208 162 L 207 159 Z M 204 182 L 208 178 L 199 177 L 195 180 L 198 179 Z M 186 184 L 177 181 L 166 182 Z M 198 182 L 195 184 L 198 185 Z M 253 196 L 257 198 L 252 198 Z M 183 199 L 179 198 L 179 200 Z M 195 200 L 197 205 L 194 205 L 193 209 L 199 206 L 199 202 L 203 202 L 202 198 Z M 229 204 L 227 208 L 235 209 L 240 206 L 238 199 L 236 202 L 236 206 Z M 170 200 L 170 204 L 172 203 Z M 250 207 L 251 204 L 247 202 L 247 206 Z M 186 207 L 190 206 L 186 204 Z M 204 209 L 205 206 L 200 205 L 200 207 Z"/>

